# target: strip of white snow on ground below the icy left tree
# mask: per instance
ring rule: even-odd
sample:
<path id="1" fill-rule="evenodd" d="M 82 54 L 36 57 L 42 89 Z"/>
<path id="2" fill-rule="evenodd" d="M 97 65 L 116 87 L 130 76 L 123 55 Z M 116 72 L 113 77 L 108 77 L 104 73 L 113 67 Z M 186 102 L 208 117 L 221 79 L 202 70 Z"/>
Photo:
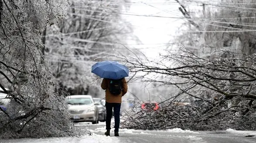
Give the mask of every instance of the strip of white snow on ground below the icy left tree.
<path id="1" fill-rule="evenodd" d="M 86 135 L 82 137 L 0 140 L 0 143 L 119 143 L 119 139 L 115 136 L 102 136 L 93 133 L 92 136 Z"/>

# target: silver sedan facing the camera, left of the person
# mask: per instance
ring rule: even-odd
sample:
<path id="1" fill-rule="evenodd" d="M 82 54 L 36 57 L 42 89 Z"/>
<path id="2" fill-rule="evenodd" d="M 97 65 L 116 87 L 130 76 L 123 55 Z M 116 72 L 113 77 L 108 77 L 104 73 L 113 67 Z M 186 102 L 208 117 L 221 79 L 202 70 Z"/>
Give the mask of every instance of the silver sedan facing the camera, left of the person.
<path id="1" fill-rule="evenodd" d="M 71 95 L 66 99 L 73 122 L 99 123 L 98 110 L 91 95 Z"/>

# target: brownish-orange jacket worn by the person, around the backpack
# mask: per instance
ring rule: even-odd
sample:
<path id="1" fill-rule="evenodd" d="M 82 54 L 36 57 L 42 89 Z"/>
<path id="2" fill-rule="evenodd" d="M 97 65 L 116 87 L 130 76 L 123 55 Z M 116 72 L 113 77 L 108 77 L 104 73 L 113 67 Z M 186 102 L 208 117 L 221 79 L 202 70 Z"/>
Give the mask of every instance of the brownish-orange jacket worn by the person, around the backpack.
<path id="1" fill-rule="evenodd" d="M 109 82 L 110 82 L 109 79 L 103 78 L 102 83 L 101 83 L 101 88 L 106 90 L 105 91 L 106 92 L 106 102 L 122 103 L 122 96 L 127 93 L 127 89 L 128 89 L 125 78 L 123 78 L 122 92 L 119 95 L 113 95 L 113 94 L 110 93 L 110 91 L 109 91 Z"/>

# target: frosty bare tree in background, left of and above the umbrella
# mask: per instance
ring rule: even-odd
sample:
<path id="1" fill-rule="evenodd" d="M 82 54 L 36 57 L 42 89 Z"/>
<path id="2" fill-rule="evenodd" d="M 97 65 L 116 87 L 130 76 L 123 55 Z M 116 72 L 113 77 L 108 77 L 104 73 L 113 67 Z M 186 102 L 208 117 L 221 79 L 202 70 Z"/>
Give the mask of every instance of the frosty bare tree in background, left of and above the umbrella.
<path id="1" fill-rule="evenodd" d="M 91 66 L 120 52 L 123 46 L 116 43 L 126 43 L 132 36 L 129 23 L 118 14 L 128 8 L 113 0 L 71 1 L 66 19 L 48 29 L 45 49 L 61 87 L 71 94 L 88 94 Z"/>

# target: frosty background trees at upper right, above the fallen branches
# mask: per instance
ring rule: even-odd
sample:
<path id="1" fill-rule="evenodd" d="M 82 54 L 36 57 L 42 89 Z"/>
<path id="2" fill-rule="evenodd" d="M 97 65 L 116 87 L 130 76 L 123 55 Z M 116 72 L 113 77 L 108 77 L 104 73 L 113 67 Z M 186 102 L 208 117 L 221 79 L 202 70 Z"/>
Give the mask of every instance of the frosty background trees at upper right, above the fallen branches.
<path id="1" fill-rule="evenodd" d="M 190 7 L 189 4 L 177 1 L 188 25 L 188 32 L 181 33 L 177 40 L 187 48 L 196 51 L 210 46 L 247 55 L 255 52 L 253 15 L 256 7 L 250 4 L 251 0 L 222 0 L 218 3 L 190 0 L 203 7 L 199 13 L 188 8 L 183 10 L 185 6 Z M 198 53 L 202 54 L 201 51 Z"/>

